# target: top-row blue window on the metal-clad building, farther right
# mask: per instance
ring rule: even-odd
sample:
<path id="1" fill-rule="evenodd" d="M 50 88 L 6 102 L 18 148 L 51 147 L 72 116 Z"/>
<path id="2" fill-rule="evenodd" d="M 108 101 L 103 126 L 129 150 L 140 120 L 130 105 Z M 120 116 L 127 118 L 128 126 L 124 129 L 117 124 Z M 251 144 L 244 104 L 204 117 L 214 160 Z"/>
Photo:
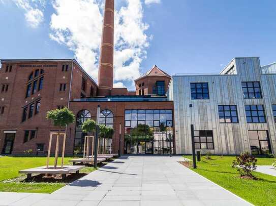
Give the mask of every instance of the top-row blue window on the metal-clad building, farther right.
<path id="1" fill-rule="evenodd" d="M 261 99 L 262 92 L 259 81 L 242 81 L 241 83 L 244 99 Z"/>

